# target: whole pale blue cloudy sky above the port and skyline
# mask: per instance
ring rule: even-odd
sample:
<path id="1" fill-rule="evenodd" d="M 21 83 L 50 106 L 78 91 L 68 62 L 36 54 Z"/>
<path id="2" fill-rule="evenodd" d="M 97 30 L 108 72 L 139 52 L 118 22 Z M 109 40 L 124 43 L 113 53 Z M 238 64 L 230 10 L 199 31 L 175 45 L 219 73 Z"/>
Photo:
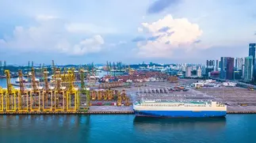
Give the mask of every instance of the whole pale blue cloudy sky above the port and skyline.
<path id="1" fill-rule="evenodd" d="M 204 63 L 246 57 L 254 0 L 0 0 L 7 64 Z"/>

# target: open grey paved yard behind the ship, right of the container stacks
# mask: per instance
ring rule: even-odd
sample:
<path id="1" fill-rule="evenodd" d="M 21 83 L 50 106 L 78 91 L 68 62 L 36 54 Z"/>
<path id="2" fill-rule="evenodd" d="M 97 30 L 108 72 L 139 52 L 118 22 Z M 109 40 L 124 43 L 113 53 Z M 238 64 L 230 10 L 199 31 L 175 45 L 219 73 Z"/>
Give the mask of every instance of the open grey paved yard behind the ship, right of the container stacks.
<path id="1" fill-rule="evenodd" d="M 220 87 L 191 87 L 193 83 L 197 83 L 197 80 L 183 79 L 178 84 L 166 83 L 169 86 L 153 83 L 151 86 L 155 88 L 140 88 L 136 100 L 216 100 L 227 105 L 227 113 L 256 113 L 254 88 L 221 86 L 226 83 L 220 83 Z M 181 90 L 177 85 L 188 88 Z"/>

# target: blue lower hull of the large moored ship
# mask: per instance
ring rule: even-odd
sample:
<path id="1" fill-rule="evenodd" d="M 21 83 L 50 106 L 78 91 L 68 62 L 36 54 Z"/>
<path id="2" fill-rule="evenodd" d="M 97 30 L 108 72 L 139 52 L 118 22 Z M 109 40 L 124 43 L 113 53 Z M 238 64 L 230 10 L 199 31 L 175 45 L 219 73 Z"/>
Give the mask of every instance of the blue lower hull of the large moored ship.
<path id="1" fill-rule="evenodd" d="M 224 117 L 226 111 L 135 111 L 136 116 L 159 118 Z"/>

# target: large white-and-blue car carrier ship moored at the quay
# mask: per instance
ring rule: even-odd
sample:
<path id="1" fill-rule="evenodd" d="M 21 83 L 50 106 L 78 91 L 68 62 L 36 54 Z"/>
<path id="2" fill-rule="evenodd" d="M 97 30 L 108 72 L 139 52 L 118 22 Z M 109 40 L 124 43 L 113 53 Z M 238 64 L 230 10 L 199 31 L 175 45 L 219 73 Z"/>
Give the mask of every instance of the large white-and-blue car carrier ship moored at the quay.
<path id="1" fill-rule="evenodd" d="M 215 101 L 141 100 L 133 104 L 136 116 L 162 118 L 223 117 L 227 105 Z"/>

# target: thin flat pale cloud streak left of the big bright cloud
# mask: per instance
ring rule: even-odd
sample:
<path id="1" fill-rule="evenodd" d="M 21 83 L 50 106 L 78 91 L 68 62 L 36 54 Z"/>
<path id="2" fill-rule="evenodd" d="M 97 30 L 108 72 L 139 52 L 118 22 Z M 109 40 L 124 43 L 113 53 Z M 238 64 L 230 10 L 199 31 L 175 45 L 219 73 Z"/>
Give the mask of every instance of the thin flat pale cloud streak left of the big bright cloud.
<path id="1" fill-rule="evenodd" d="M 94 24 L 70 23 L 65 25 L 68 32 L 73 33 L 116 33 L 113 28 L 99 27 Z"/>

